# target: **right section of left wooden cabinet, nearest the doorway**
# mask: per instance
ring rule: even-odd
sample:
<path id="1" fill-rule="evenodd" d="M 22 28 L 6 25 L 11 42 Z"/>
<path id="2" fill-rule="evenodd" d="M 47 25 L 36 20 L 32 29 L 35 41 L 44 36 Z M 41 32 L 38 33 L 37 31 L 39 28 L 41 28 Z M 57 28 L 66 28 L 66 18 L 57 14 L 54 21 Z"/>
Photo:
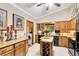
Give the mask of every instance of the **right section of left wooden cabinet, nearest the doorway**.
<path id="1" fill-rule="evenodd" d="M 26 41 L 22 41 L 15 44 L 15 56 L 26 55 Z"/>

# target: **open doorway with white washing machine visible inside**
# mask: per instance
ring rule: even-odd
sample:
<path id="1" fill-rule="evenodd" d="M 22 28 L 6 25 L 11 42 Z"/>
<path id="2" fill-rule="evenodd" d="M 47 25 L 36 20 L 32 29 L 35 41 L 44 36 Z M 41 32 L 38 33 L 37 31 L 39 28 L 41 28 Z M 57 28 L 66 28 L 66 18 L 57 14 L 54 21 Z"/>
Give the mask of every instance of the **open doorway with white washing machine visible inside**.
<path id="1" fill-rule="evenodd" d="M 32 21 L 26 20 L 26 31 L 29 34 L 29 44 L 32 45 L 34 42 L 34 23 Z"/>

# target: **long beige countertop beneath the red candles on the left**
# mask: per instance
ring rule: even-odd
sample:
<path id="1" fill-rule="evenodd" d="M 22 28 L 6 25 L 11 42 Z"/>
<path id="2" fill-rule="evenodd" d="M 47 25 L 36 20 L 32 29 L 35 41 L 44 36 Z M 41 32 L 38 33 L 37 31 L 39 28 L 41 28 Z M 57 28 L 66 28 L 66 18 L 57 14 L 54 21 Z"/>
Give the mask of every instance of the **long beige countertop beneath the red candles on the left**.
<path id="1" fill-rule="evenodd" d="M 27 39 L 28 39 L 28 37 L 23 36 L 23 37 L 18 38 L 18 39 L 16 39 L 16 40 L 11 40 L 11 41 L 2 42 L 2 43 L 0 43 L 0 48 L 3 48 L 3 47 L 6 47 L 6 46 L 15 44 L 15 43 L 18 43 L 18 42 L 20 42 L 20 41 L 27 40 Z"/>

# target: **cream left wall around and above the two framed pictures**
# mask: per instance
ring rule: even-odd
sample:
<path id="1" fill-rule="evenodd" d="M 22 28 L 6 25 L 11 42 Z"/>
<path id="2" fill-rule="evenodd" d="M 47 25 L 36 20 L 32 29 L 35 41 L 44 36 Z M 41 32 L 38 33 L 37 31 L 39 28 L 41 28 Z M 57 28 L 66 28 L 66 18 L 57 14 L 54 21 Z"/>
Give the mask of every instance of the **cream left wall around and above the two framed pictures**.
<path id="1" fill-rule="evenodd" d="M 30 21 L 32 21 L 32 22 L 34 22 L 34 20 L 33 20 L 33 18 L 32 17 L 30 17 L 29 15 L 27 15 L 26 13 L 24 13 L 24 12 L 22 12 L 22 11 L 20 11 L 19 9 L 17 9 L 17 8 L 15 8 L 14 6 L 12 6 L 12 5 L 10 5 L 10 4 L 7 4 L 7 3 L 0 3 L 0 8 L 1 9 L 4 9 L 4 10 L 7 10 L 7 12 L 8 12 L 8 15 L 7 15 L 7 17 L 8 17 L 8 26 L 9 25 L 12 25 L 12 21 L 13 21 L 13 18 L 12 18 L 12 14 L 13 13 L 15 13 L 15 14 L 17 14 L 17 15 L 20 15 L 20 16 L 23 16 L 24 18 L 25 18 L 25 20 L 24 20 L 24 24 L 25 24 L 25 26 L 24 26 L 24 32 L 26 32 L 26 20 L 30 20 Z M 34 22 L 34 24 L 35 24 L 35 22 Z M 35 30 L 35 28 L 34 28 L 34 30 Z M 23 35 L 23 31 L 20 31 L 19 32 L 20 34 L 22 33 L 22 35 Z M 19 35 L 18 35 L 19 36 Z"/>

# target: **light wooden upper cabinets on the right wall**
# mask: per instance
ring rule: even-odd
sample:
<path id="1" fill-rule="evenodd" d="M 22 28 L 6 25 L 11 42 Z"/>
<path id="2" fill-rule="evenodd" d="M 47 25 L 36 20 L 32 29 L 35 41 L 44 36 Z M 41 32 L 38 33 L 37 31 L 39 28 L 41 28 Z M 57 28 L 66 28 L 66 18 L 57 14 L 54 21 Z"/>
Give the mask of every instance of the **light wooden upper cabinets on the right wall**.
<path id="1" fill-rule="evenodd" d="M 76 18 L 69 21 L 56 22 L 54 28 L 60 32 L 70 32 L 76 30 Z"/>

